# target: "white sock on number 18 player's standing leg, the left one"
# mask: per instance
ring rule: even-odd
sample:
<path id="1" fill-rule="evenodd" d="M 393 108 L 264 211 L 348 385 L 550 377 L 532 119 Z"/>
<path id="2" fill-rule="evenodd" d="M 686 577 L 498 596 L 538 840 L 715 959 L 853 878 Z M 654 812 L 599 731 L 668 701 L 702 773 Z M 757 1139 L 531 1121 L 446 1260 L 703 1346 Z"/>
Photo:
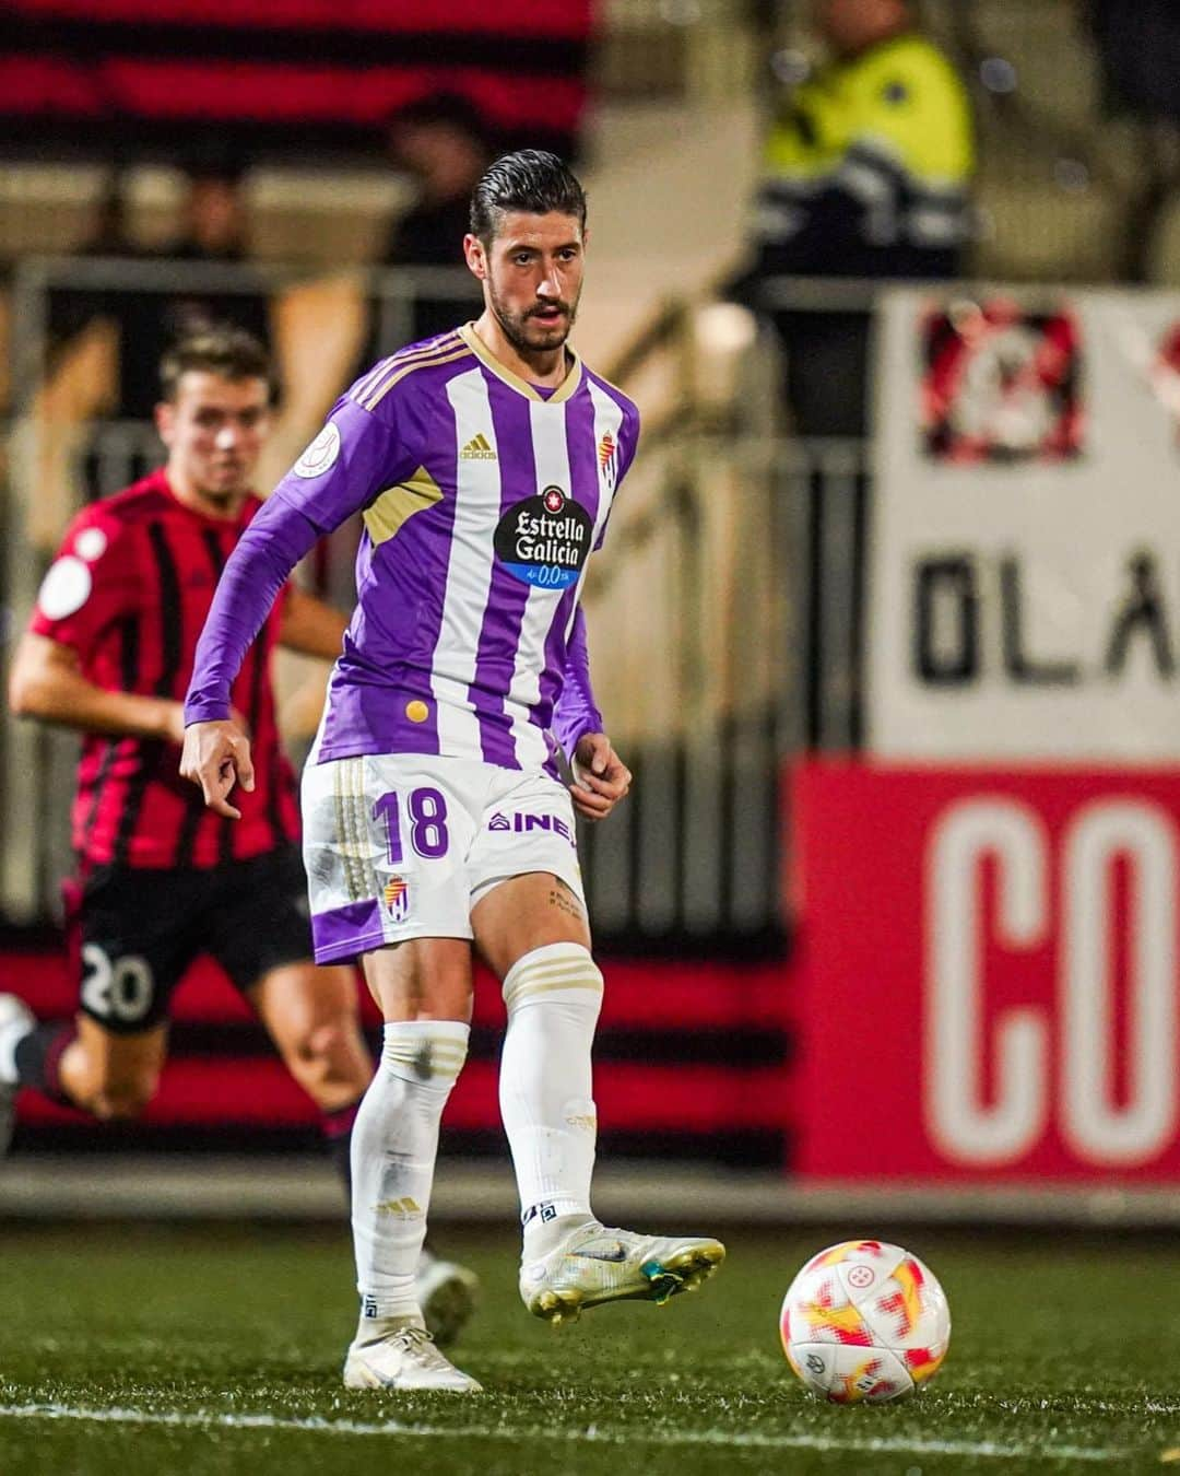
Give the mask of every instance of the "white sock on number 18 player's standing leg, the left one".
<path id="1" fill-rule="evenodd" d="M 426 1235 L 438 1123 L 468 1054 L 457 1020 L 385 1026 L 385 1049 L 353 1125 L 353 1244 L 361 1333 L 420 1317 L 414 1271 Z"/>

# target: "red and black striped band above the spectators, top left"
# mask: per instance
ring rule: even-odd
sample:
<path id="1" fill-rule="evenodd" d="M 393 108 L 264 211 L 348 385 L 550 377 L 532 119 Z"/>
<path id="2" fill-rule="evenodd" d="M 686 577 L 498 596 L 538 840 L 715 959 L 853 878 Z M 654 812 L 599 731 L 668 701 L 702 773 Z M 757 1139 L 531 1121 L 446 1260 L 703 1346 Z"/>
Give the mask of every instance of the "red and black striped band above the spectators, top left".
<path id="1" fill-rule="evenodd" d="M 131 145 L 189 158 L 372 154 L 389 112 L 459 93 L 494 142 L 577 146 L 593 0 L 9 0 L 0 125 L 9 145 Z M 204 130 L 204 131 L 202 131 Z M 226 134 L 226 130 L 232 130 Z M 208 140 L 205 140 L 208 142 Z M 122 155 L 118 155 L 119 158 Z"/>

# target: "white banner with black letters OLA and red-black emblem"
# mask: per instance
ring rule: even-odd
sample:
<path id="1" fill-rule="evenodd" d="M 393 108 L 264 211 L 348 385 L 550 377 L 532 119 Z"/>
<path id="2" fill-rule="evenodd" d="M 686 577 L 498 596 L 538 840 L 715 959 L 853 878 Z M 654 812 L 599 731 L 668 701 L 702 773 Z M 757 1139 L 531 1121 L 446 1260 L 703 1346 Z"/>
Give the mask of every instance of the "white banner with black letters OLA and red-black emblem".
<path id="1" fill-rule="evenodd" d="M 1180 294 L 898 289 L 867 747 L 1180 762 Z"/>

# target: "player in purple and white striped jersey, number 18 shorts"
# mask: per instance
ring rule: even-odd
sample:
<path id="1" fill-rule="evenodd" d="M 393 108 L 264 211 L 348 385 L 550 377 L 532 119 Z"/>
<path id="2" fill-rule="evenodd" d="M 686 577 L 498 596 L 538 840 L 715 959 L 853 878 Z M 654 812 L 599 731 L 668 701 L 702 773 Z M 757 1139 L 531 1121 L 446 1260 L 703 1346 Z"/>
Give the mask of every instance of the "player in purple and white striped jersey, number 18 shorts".
<path id="1" fill-rule="evenodd" d="M 357 608 L 302 793 L 316 958 L 360 958 L 385 1018 L 353 1135 L 350 1387 L 479 1387 L 429 1340 L 413 1280 L 473 949 L 507 1007 L 500 1110 L 528 1311 L 662 1302 L 724 1258 L 715 1240 L 606 1230 L 590 1210 L 603 982 L 574 812 L 602 819 L 631 776 L 594 706 L 578 595 L 639 415 L 566 342 L 584 249 L 586 196 L 560 159 L 525 149 L 487 170 L 463 241 L 482 316 L 339 400 L 229 559 L 189 688 L 181 772 L 235 816 L 254 769 L 233 677 L 291 568 L 360 512 Z"/>

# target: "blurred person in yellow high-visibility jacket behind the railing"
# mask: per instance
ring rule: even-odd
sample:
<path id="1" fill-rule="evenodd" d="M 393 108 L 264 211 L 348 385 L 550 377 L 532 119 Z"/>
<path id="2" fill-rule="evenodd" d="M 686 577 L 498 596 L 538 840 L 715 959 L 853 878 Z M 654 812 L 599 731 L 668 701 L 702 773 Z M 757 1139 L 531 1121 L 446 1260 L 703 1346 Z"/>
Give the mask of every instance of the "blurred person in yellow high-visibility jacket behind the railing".
<path id="1" fill-rule="evenodd" d="M 953 276 L 968 238 L 971 108 L 909 0 L 816 0 L 813 15 L 832 56 L 767 137 L 740 283 L 754 306 L 776 276 Z M 795 430 L 863 435 L 869 314 L 771 316 Z"/>

